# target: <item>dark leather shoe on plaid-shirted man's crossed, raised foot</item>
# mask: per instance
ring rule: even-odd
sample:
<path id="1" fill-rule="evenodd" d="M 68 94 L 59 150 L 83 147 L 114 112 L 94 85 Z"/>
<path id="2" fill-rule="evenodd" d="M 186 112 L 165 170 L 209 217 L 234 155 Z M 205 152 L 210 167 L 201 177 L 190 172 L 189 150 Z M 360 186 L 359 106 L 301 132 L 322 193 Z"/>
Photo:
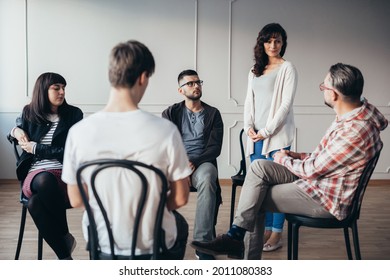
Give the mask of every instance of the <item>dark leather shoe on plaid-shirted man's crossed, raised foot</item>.
<path id="1" fill-rule="evenodd" d="M 221 234 L 209 242 L 192 241 L 191 247 L 213 256 L 227 255 L 232 259 L 244 258 L 244 242 L 233 239 L 227 234 Z"/>

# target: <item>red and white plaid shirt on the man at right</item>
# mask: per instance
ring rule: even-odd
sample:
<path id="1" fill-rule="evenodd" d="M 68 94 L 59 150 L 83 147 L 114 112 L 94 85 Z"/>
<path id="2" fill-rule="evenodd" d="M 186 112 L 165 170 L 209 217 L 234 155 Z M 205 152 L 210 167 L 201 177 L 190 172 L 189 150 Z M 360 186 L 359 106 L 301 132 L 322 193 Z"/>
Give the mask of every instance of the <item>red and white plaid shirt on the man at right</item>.
<path id="1" fill-rule="evenodd" d="M 358 109 L 332 123 L 320 144 L 301 159 L 279 160 L 300 179 L 295 183 L 337 219 L 348 215 L 366 163 L 382 147 L 379 131 L 388 121 L 366 100 Z"/>

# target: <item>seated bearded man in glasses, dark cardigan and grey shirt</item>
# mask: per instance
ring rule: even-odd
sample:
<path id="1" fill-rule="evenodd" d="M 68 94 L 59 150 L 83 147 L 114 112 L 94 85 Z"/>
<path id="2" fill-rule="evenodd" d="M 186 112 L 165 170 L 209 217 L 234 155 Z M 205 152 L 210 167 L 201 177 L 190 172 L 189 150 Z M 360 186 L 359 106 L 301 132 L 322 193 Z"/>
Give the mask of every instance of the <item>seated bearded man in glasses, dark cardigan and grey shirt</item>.
<path id="1" fill-rule="evenodd" d="M 178 127 L 190 161 L 190 185 L 198 193 L 194 240 L 210 241 L 215 235 L 214 217 L 221 202 L 217 157 L 222 148 L 223 121 L 218 109 L 200 100 L 203 81 L 196 71 L 182 71 L 178 83 L 184 101 L 168 107 L 162 117 Z M 204 253 L 196 254 L 201 260 L 214 259 Z"/>

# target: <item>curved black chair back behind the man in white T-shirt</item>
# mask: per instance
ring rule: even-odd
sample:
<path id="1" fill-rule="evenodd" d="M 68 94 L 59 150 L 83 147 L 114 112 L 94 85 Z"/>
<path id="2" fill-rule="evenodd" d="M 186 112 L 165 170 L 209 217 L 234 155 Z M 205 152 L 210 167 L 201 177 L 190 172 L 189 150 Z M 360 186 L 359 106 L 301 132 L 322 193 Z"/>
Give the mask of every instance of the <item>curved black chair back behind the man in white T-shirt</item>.
<path id="1" fill-rule="evenodd" d="M 141 195 L 138 201 L 134 199 L 134 203 L 138 203 L 137 205 L 137 211 L 136 215 L 134 217 L 134 226 L 133 226 L 133 234 L 132 234 L 132 240 L 131 240 L 131 255 L 129 256 L 129 259 L 134 259 L 135 256 L 135 250 L 137 246 L 137 238 L 138 238 L 138 230 L 139 226 L 142 223 L 142 215 L 143 215 L 143 209 L 145 205 L 148 203 L 146 201 L 147 198 L 147 193 L 148 193 L 148 188 L 149 188 L 149 180 L 147 177 L 143 174 L 141 169 L 147 169 L 153 171 L 158 178 L 161 181 L 161 192 L 160 192 L 160 201 L 158 204 L 157 208 L 157 213 L 155 215 L 155 224 L 154 224 L 154 232 L 153 232 L 153 254 L 151 259 L 157 259 L 158 254 L 160 253 L 161 248 L 166 248 L 165 247 L 165 237 L 164 237 L 164 232 L 162 230 L 162 219 L 163 219 L 163 213 L 164 209 L 166 206 L 166 197 L 167 197 L 167 191 L 168 191 L 168 183 L 167 179 L 162 173 L 162 171 L 152 165 L 147 165 L 142 162 L 138 161 L 130 161 L 130 160 L 118 160 L 118 159 L 99 159 L 99 160 L 93 160 L 89 162 L 85 162 L 82 164 L 78 170 L 77 170 L 77 184 L 84 202 L 85 210 L 89 219 L 89 246 L 90 246 L 90 256 L 92 259 L 98 259 L 99 258 L 99 253 L 100 253 L 100 246 L 99 246 L 99 239 L 98 239 L 98 231 L 97 231 L 97 225 L 95 222 L 94 218 L 94 212 L 91 209 L 90 203 L 88 196 L 85 192 L 84 186 L 83 186 L 83 177 L 82 177 L 82 172 L 87 168 L 87 167 L 94 167 L 90 178 L 88 178 L 89 185 L 92 189 L 92 193 L 89 193 L 89 196 L 94 195 L 96 198 L 96 202 L 99 206 L 99 210 L 101 211 L 105 225 L 106 225 L 106 230 L 108 232 L 108 238 L 110 242 L 110 251 L 111 251 L 111 259 L 116 259 L 115 252 L 114 252 L 114 236 L 112 233 L 111 229 L 111 224 L 108 219 L 107 215 L 107 210 L 105 209 L 102 203 L 102 200 L 99 197 L 99 194 L 96 190 L 96 177 L 98 173 L 100 173 L 102 170 L 105 170 L 107 168 L 125 168 L 133 174 L 137 175 L 138 178 L 141 181 L 141 184 L 134 184 L 129 187 L 135 188 L 139 187 L 141 188 Z M 113 180 L 114 181 L 114 180 Z M 106 186 L 104 186 L 106 187 Z M 115 186 L 107 186 L 113 189 Z"/>

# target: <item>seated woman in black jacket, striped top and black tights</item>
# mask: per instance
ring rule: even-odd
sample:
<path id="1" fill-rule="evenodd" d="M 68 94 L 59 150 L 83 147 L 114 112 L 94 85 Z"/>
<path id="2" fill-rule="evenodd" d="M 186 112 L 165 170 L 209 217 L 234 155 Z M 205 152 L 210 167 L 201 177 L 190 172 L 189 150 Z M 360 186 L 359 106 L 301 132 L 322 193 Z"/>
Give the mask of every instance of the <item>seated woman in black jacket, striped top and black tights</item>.
<path id="1" fill-rule="evenodd" d="M 69 128 L 83 118 L 79 108 L 66 102 L 65 86 L 61 75 L 41 74 L 30 104 L 11 131 L 23 149 L 16 172 L 29 199 L 28 210 L 58 259 L 72 259 L 76 246 L 69 233 L 66 209 L 71 206 L 61 173 Z"/>

